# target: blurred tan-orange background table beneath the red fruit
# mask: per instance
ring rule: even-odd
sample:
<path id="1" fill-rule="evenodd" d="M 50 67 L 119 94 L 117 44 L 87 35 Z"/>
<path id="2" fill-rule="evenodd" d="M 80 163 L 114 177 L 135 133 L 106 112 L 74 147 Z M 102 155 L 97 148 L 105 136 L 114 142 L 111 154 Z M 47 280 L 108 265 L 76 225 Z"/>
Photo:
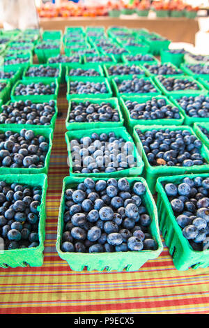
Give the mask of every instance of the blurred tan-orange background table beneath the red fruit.
<path id="1" fill-rule="evenodd" d="M 194 44 L 195 33 L 199 31 L 198 20 L 190 20 L 186 17 L 137 17 L 132 15 L 121 17 L 55 17 L 40 18 L 40 27 L 42 29 L 61 29 L 66 26 L 111 26 L 144 28 L 149 31 L 155 31 L 162 36 L 169 38 L 172 42 L 187 42 Z"/>

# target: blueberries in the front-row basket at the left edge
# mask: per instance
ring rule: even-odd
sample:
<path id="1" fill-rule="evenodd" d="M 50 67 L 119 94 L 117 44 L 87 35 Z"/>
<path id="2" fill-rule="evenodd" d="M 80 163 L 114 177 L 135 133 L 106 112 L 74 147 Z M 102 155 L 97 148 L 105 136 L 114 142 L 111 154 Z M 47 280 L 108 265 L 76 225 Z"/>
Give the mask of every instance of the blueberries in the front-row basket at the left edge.
<path id="1" fill-rule="evenodd" d="M 4 250 L 39 245 L 41 195 L 40 187 L 0 181 L 0 236 Z"/>

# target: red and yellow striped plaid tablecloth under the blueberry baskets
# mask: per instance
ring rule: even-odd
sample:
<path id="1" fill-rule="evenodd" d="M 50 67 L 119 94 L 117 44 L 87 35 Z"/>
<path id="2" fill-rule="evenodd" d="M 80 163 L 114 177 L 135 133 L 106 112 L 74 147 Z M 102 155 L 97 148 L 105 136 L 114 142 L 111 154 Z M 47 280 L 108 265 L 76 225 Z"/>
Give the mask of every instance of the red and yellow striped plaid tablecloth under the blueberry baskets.
<path id="1" fill-rule="evenodd" d="M 139 271 L 71 271 L 56 253 L 56 227 L 63 177 L 68 175 L 61 88 L 47 189 L 47 224 L 42 267 L 0 269 L 1 314 L 177 314 L 209 313 L 209 269 L 178 271 L 168 248 Z M 162 241 L 164 241 L 162 239 Z"/>

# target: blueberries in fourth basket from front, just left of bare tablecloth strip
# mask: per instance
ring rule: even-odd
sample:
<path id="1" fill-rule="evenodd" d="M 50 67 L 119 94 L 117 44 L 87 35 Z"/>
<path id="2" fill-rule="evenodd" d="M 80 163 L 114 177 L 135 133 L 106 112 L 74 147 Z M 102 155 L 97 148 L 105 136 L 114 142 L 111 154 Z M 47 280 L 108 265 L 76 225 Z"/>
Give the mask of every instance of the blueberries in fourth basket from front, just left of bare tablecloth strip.
<path id="1" fill-rule="evenodd" d="M 38 96 L 54 94 L 56 90 L 56 83 L 51 82 L 45 84 L 42 82 L 32 82 L 29 84 L 17 84 L 14 94 L 15 96 Z"/>

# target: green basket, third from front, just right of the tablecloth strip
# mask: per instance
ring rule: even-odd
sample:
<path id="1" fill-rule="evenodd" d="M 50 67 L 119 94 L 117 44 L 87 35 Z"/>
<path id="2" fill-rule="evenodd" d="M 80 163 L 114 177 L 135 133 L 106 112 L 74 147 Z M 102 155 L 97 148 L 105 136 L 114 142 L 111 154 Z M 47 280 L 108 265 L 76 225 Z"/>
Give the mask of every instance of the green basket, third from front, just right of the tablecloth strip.
<path id="1" fill-rule="evenodd" d="M 89 101 L 90 103 L 96 103 L 96 104 L 101 104 L 101 103 L 110 103 L 111 107 L 115 108 L 118 111 L 119 114 L 119 121 L 114 122 L 114 121 L 107 121 L 107 122 L 75 122 L 75 123 L 70 123 L 70 111 L 71 111 L 71 103 L 72 101 L 75 101 L 75 103 L 86 103 L 86 101 Z M 72 130 L 88 130 L 88 129 L 94 129 L 94 128 L 111 128 L 111 127 L 118 127 L 118 126 L 123 126 L 123 115 L 121 113 L 121 108 L 118 103 L 117 98 L 108 98 L 106 99 L 101 99 L 101 98 L 86 98 L 86 99 L 79 99 L 79 98 L 72 98 L 69 101 L 68 105 L 68 114 L 65 120 L 65 126 L 68 131 Z"/>

